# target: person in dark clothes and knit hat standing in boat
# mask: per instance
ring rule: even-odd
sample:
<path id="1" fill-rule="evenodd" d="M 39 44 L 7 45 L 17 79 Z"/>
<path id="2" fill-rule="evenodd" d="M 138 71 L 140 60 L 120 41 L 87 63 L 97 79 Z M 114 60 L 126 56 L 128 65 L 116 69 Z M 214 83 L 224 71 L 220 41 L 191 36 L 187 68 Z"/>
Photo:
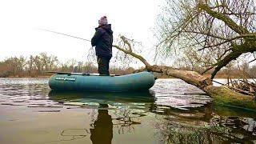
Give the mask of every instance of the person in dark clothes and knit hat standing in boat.
<path id="1" fill-rule="evenodd" d="M 106 16 L 98 20 L 94 37 L 91 38 L 91 46 L 95 46 L 98 74 L 110 75 L 110 59 L 112 58 L 113 31 L 108 24 Z"/>

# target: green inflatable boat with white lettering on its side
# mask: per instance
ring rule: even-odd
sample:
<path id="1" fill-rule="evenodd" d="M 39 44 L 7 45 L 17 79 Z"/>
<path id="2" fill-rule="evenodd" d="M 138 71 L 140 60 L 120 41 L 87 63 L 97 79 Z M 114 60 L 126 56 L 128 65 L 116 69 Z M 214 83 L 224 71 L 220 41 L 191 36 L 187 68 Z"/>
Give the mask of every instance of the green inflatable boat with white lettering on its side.
<path id="1" fill-rule="evenodd" d="M 80 73 L 58 73 L 51 76 L 52 90 L 125 92 L 149 90 L 154 85 L 154 75 L 150 72 L 121 76 L 100 76 Z"/>

